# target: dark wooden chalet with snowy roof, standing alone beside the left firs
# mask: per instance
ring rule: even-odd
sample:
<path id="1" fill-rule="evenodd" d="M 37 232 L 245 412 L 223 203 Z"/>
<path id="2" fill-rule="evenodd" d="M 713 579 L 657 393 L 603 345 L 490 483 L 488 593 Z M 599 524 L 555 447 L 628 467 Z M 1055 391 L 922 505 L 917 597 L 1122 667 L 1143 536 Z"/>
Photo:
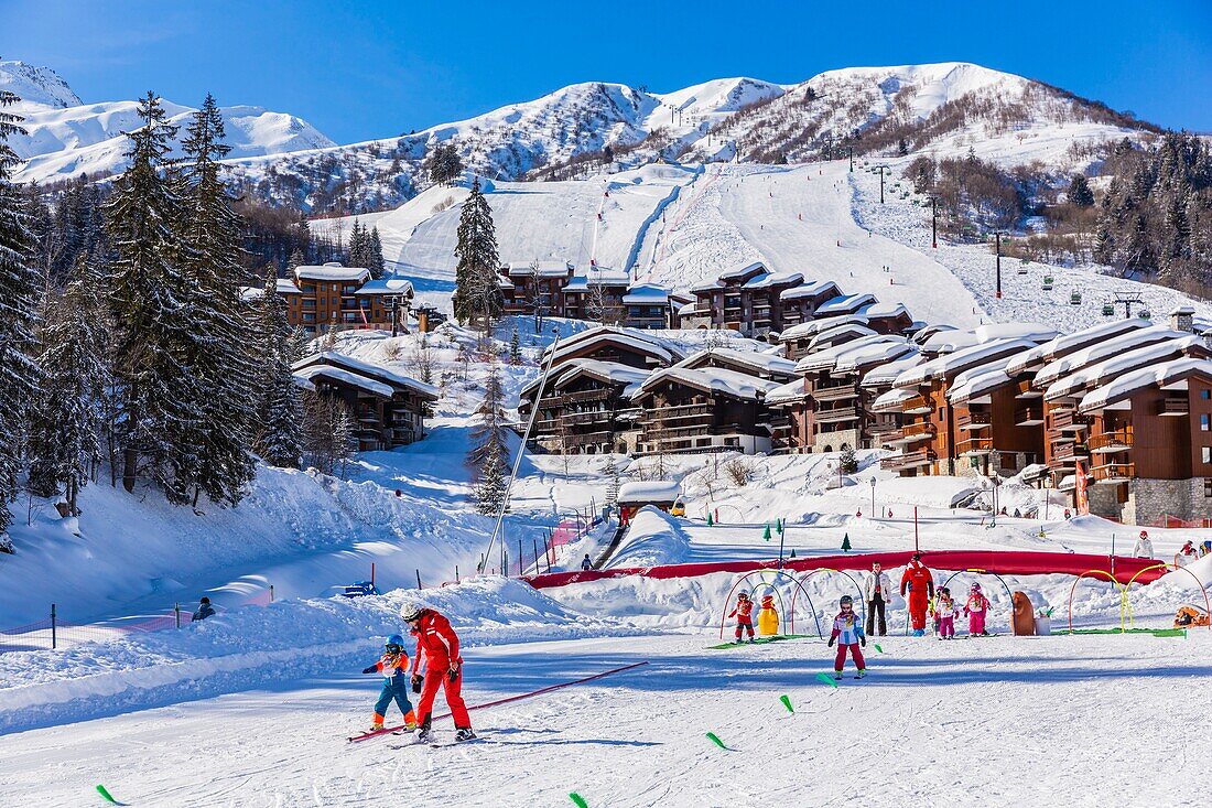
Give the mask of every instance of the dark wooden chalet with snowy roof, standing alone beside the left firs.
<path id="1" fill-rule="evenodd" d="M 356 427 L 359 451 L 395 449 L 425 436 L 424 411 L 438 391 L 423 382 L 331 351 L 295 363 L 296 377 L 339 399 Z"/>

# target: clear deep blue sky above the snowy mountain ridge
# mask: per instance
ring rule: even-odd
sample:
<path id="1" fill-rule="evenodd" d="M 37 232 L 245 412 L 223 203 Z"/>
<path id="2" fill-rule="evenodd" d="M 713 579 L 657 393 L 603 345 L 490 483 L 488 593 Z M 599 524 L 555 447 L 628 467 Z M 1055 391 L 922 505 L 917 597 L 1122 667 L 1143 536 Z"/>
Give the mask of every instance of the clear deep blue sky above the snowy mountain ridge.
<path id="1" fill-rule="evenodd" d="M 337 142 L 457 120 L 574 81 L 665 91 L 750 75 L 968 61 L 1212 131 L 1212 2 L 332 2 L 0 0 L 0 56 L 85 101 L 148 89 L 257 104 Z"/>

